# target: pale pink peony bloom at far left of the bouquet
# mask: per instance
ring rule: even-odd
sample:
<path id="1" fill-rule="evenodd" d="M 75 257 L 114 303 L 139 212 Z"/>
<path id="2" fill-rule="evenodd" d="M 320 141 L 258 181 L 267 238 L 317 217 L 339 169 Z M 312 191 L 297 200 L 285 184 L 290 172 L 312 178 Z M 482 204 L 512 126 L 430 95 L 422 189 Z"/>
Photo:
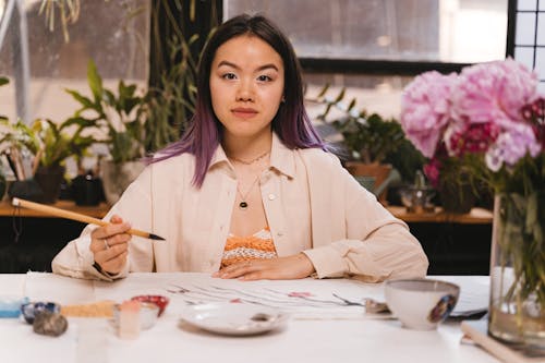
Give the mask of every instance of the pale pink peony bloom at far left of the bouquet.
<path id="1" fill-rule="evenodd" d="M 404 89 L 401 126 L 426 157 L 432 157 L 450 119 L 450 88 L 456 74 L 423 73 Z"/>

